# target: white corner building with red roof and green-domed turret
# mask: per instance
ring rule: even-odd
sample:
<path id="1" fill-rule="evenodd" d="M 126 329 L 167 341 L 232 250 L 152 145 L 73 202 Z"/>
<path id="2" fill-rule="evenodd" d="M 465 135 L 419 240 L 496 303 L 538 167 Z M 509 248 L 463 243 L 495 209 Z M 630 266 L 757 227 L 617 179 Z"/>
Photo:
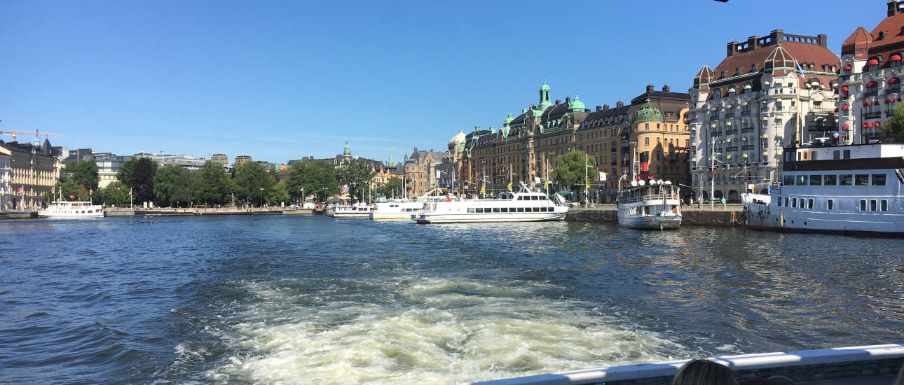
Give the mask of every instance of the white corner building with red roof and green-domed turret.
<path id="1" fill-rule="evenodd" d="M 780 180 L 783 148 L 834 138 L 838 65 L 824 34 L 775 30 L 729 42 L 725 59 L 704 65 L 690 89 L 694 192 L 739 202 L 751 186 Z"/>

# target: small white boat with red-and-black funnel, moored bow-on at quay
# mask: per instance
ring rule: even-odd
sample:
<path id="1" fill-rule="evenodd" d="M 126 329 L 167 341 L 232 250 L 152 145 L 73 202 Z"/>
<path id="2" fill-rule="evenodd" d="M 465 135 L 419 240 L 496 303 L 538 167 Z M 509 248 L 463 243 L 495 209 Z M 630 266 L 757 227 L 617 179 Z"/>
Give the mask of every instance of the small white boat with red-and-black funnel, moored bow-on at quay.
<path id="1" fill-rule="evenodd" d="M 618 224 L 633 229 L 678 229 L 682 219 L 678 191 L 670 181 L 631 181 L 631 187 L 618 192 Z"/>

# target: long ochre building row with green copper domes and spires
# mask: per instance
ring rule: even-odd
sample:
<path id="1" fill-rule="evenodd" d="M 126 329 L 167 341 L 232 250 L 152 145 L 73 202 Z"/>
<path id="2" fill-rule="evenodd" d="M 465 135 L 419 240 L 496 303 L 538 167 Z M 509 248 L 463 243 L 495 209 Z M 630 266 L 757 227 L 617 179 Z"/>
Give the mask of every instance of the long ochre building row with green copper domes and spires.
<path id="1" fill-rule="evenodd" d="M 591 201 L 612 202 L 621 175 L 631 175 L 633 155 L 637 149 L 649 152 L 654 174 L 682 183 L 689 179 L 687 168 L 687 112 L 690 96 L 662 91 L 647 86 L 646 92 L 626 105 L 618 101 L 615 108 L 585 108 L 575 96 L 551 101 L 551 89 L 545 82 L 536 105 L 524 108 L 522 114 L 509 114 L 499 129 L 475 127 L 470 134 L 454 136 L 449 141 L 449 156 L 457 163 L 466 193 L 486 193 L 513 189 L 518 183 L 544 185 L 556 166 L 556 157 L 579 150 L 596 160 L 597 168 L 589 172 Z M 634 120 L 642 111 L 644 126 Z M 632 144 L 640 143 L 640 147 Z M 655 170 L 659 170 L 657 173 Z M 598 171 L 606 174 L 598 180 Z M 540 181 L 539 185 L 537 181 Z M 563 189 L 551 181 L 552 189 Z"/>

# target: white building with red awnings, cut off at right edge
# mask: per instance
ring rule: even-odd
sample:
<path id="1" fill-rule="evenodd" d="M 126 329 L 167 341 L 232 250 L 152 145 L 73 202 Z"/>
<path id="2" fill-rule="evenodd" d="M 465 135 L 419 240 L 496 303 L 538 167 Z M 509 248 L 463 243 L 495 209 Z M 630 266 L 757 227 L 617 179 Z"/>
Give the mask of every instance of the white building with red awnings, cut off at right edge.
<path id="1" fill-rule="evenodd" d="M 841 101 L 839 131 L 851 132 L 843 143 L 877 140 L 879 129 L 901 102 L 904 80 L 904 9 L 900 0 L 887 3 L 887 17 L 868 32 L 859 27 L 842 44 L 838 70 Z"/>

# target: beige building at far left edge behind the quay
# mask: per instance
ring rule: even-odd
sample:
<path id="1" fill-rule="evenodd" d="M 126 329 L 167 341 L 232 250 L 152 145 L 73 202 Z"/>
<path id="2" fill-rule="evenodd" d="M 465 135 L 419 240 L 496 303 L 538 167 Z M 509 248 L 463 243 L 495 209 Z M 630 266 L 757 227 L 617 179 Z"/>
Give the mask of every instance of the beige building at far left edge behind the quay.
<path id="1" fill-rule="evenodd" d="M 52 149 L 50 141 L 46 139 L 42 146 L 3 141 L 0 141 L 0 146 L 11 157 L 10 189 L 14 208 L 41 206 L 44 203 L 43 195 L 50 193 L 51 188 L 60 180 L 60 154 Z"/>

